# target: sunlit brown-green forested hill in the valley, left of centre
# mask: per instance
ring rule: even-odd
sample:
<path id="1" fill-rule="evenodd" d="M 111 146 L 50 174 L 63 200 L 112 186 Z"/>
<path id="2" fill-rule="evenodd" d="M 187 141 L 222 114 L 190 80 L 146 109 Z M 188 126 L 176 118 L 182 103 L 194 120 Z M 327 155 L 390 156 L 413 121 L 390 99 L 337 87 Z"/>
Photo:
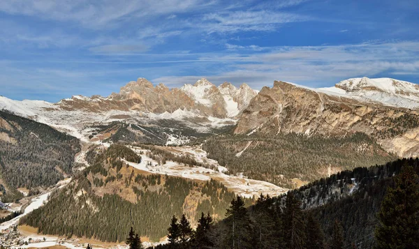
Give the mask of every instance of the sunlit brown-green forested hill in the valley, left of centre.
<path id="1" fill-rule="evenodd" d="M 148 174 L 119 159 L 141 160 L 135 156 L 120 144 L 106 150 L 92 148 L 87 155 L 91 167 L 53 193 L 45 206 L 22 218 L 22 224 L 38 227 L 44 234 L 101 241 L 124 241 L 125 228 L 133 226 L 140 236 L 159 241 L 173 214 L 185 213 L 193 223 L 201 212 L 214 219 L 224 218 L 235 194 L 221 183 Z M 247 205 L 252 202 L 245 201 Z"/>

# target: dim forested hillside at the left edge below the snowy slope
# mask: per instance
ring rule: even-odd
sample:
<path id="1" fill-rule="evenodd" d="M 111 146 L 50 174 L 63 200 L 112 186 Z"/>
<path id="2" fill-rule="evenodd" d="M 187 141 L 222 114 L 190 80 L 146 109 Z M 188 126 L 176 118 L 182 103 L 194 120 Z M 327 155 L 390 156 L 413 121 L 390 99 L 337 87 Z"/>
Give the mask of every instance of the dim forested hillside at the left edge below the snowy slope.
<path id="1" fill-rule="evenodd" d="M 78 139 L 0 111 L 0 174 L 10 188 L 51 186 L 70 174 Z"/>

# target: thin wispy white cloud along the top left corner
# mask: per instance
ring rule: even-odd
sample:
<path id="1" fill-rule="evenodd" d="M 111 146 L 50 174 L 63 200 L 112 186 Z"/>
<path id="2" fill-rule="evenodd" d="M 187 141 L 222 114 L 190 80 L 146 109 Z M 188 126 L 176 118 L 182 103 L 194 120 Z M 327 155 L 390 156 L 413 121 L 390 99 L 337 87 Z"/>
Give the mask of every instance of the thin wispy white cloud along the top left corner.
<path id="1" fill-rule="evenodd" d="M 201 0 L 84 0 L 55 1 L 0 1 L 0 11 L 13 15 L 29 15 L 43 19 L 79 22 L 85 27 L 110 28 L 115 22 L 182 13 L 186 10 L 207 6 Z"/>

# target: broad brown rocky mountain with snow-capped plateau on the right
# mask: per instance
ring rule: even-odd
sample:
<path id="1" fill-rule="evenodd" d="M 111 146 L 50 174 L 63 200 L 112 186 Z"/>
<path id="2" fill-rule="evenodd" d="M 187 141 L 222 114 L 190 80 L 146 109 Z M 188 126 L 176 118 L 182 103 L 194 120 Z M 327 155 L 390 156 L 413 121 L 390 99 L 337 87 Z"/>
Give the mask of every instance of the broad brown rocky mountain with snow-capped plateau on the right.
<path id="1" fill-rule="evenodd" d="M 419 85 L 367 77 L 311 89 L 275 81 L 243 111 L 236 134 L 365 133 L 398 156 L 419 156 Z"/>

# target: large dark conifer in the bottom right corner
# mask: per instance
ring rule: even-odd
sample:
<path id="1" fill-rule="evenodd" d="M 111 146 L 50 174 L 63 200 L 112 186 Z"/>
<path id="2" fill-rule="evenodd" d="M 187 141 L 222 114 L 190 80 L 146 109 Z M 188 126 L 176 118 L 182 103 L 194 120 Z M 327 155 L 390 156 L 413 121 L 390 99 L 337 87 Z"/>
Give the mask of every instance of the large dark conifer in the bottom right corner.
<path id="1" fill-rule="evenodd" d="M 388 188 L 378 213 L 376 249 L 419 248 L 419 183 L 413 167 L 404 165 Z"/>

